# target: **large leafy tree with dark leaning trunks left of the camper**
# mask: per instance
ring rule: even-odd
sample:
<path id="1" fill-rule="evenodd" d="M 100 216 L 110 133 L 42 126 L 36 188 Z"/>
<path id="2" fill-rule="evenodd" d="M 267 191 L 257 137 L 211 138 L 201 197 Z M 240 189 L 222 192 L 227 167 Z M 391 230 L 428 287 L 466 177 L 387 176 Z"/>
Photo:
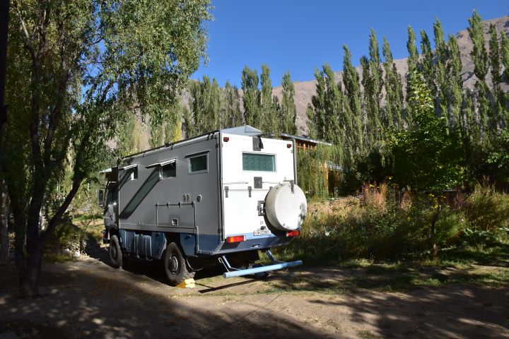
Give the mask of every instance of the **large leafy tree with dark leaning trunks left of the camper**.
<path id="1" fill-rule="evenodd" d="M 81 182 L 107 159 L 115 121 L 133 107 L 160 118 L 198 68 L 209 11 L 202 0 L 13 1 L 6 97 L 16 119 L 1 165 L 23 296 L 37 295 L 42 250 Z M 71 189 L 59 198 L 66 163 Z"/>

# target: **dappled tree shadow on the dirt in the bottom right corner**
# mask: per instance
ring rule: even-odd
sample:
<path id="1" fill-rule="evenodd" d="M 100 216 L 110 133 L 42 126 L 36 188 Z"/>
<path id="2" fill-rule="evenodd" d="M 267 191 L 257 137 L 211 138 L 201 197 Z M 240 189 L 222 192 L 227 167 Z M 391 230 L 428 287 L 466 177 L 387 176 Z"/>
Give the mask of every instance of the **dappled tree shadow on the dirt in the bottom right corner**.
<path id="1" fill-rule="evenodd" d="M 505 300 L 505 302 L 503 301 Z M 509 290 L 476 285 L 421 288 L 409 294 L 359 292 L 316 304 L 348 307 L 365 338 L 509 338 Z"/>

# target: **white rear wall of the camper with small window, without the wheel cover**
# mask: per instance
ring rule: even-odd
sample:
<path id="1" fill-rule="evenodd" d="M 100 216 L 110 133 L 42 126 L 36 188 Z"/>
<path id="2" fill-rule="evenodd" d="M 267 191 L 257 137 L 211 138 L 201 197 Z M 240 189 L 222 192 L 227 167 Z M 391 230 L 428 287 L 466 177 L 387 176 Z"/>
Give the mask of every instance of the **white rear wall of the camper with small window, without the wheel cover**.
<path id="1" fill-rule="evenodd" d="M 263 239 L 273 234 L 263 215 L 271 187 L 294 180 L 293 144 L 289 141 L 223 134 L 222 191 L 224 237 Z"/>

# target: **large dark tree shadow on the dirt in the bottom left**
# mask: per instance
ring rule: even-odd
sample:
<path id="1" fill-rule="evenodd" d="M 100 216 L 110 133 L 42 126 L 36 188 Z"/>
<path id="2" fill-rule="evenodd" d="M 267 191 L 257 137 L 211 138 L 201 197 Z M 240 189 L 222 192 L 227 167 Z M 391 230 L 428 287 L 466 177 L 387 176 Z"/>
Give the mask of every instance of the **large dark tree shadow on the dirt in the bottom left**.
<path id="1" fill-rule="evenodd" d="M 194 297 L 189 303 L 192 295 L 186 290 L 90 262 L 45 265 L 42 295 L 17 299 L 12 288 L 16 287 L 14 267 L 0 267 L 0 272 L 0 334 L 11 331 L 19 338 L 259 338 L 262 334 L 325 338 L 265 309 L 277 295 L 260 296 L 256 302 L 226 311 L 206 297 Z M 271 319 L 271 328 L 263 319 Z"/>

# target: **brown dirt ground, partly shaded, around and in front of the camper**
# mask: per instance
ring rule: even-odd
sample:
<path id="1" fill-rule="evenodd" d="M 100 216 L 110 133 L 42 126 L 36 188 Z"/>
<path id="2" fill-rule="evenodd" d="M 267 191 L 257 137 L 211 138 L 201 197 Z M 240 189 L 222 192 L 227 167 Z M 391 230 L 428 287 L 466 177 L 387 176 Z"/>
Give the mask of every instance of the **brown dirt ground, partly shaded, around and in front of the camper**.
<path id="1" fill-rule="evenodd" d="M 165 285 L 158 261 L 122 270 L 101 253 L 45 263 L 41 296 L 18 299 L 14 266 L 0 266 L 0 338 L 509 338 L 507 285 L 380 292 L 345 283 L 368 276 L 303 267 L 223 279 L 216 269 L 180 289 Z"/>

